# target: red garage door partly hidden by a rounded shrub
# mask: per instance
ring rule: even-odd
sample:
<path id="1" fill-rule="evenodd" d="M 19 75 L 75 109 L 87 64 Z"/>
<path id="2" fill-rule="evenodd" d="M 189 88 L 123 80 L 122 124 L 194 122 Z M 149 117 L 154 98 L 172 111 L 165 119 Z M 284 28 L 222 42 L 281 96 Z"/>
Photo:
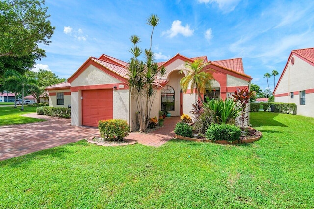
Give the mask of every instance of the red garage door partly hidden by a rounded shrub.
<path id="1" fill-rule="evenodd" d="M 82 125 L 98 126 L 99 120 L 112 119 L 112 89 L 82 91 Z"/>

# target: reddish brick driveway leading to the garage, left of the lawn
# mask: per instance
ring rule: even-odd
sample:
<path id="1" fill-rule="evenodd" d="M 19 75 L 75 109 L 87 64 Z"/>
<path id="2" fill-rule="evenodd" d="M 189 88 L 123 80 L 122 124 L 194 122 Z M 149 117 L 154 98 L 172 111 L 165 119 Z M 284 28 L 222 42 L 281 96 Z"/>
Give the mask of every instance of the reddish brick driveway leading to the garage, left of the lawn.
<path id="1" fill-rule="evenodd" d="M 71 126 L 71 119 L 31 113 L 47 121 L 0 127 L 0 160 L 22 156 L 98 135 L 98 128 Z"/>

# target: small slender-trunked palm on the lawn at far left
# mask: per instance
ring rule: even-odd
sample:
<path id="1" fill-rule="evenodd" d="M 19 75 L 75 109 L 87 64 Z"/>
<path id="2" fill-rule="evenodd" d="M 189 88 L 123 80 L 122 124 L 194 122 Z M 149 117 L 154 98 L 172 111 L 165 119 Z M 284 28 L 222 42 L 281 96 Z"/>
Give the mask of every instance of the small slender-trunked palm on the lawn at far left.
<path id="1" fill-rule="evenodd" d="M 28 89 L 28 87 L 32 84 L 36 84 L 36 80 L 33 78 L 29 78 L 26 75 L 22 75 L 19 72 L 15 70 L 8 70 L 5 72 L 5 77 L 10 77 L 16 79 L 20 85 L 19 85 L 19 90 L 22 95 L 22 104 L 21 104 L 21 111 L 24 110 L 24 92 Z"/>

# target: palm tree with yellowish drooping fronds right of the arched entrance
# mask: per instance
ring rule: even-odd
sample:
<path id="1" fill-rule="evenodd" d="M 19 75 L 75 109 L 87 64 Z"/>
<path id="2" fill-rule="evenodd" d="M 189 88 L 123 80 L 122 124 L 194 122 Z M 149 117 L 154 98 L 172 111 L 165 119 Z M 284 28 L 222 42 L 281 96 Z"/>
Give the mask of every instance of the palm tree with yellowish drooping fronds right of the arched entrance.
<path id="1" fill-rule="evenodd" d="M 187 71 L 186 76 L 180 80 L 180 85 L 184 93 L 190 87 L 192 89 L 191 93 L 194 93 L 193 89 L 195 89 L 195 94 L 201 98 L 201 94 L 205 92 L 205 88 L 211 87 L 210 81 L 214 79 L 212 73 L 203 70 L 207 65 L 209 65 L 208 62 L 204 63 L 202 59 L 197 59 L 192 63 L 186 63 L 186 69 L 179 71 L 180 73 Z M 197 95 L 195 95 L 195 100 Z M 201 101 L 203 102 L 202 98 Z"/>

